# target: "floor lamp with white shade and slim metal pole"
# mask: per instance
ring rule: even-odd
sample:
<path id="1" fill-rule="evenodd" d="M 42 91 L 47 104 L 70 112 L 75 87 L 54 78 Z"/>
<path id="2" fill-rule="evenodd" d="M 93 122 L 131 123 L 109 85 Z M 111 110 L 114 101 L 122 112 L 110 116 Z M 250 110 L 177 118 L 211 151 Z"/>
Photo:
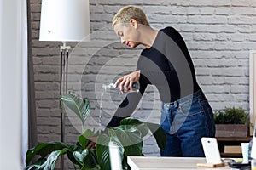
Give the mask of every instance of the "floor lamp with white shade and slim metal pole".
<path id="1" fill-rule="evenodd" d="M 67 94 L 67 42 L 79 42 L 90 34 L 89 0 L 42 0 L 39 41 L 62 42 L 60 47 L 60 96 Z M 61 105 L 60 105 L 61 107 Z M 65 140 L 65 114 L 61 108 L 61 142 Z M 64 168 L 61 156 L 61 169 Z"/>

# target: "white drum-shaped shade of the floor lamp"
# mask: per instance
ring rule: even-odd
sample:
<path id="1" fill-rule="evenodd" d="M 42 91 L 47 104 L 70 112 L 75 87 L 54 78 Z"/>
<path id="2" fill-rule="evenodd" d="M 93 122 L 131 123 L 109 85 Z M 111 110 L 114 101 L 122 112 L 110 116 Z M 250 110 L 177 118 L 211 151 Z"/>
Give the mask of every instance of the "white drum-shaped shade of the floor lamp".
<path id="1" fill-rule="evenodd" d="M 90 34 L 89 5 L 89 0 L 42 0 L 39 41 L 82 41 Z"/>

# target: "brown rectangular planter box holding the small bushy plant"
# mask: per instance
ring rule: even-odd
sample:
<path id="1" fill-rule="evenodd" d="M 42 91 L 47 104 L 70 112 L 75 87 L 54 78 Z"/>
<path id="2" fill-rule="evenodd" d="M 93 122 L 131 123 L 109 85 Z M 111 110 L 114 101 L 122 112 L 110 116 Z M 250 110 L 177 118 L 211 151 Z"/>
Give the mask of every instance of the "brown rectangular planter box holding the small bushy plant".
<path id="1" fill-rule="evenodd" d="M 247 124 L 216 124 L 216 137 L 246 138 L 248 135 Z"/>

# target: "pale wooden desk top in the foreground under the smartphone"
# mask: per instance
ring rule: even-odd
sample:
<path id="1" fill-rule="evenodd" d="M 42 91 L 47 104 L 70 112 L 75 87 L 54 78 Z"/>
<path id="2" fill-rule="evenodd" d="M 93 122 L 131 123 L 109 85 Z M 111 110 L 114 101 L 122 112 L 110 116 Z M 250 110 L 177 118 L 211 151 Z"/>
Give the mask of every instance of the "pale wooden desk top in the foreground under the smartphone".
<path id="1" fill-rule="evenodd" d="M 172 170 L 172 169 L 231 169 L 230 167 L 196 167 L 197 163 L 207 162 L 201 157 L 156 157 L 156 156 L 128 156 L 131 170 Z"/>

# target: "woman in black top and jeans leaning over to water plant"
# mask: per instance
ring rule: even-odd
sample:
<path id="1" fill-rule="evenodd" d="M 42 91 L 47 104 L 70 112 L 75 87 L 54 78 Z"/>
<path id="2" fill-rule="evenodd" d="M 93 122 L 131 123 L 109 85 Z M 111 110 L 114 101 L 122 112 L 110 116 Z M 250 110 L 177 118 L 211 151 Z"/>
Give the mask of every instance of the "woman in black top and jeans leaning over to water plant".
<path id="1" fill-rule="evenodd" d="M 167 143 L 161 156 L 204 156 L 201 137 L 214 137 L 215 125 L 183 37 L 172 27 L 154 30 L 143 10 L 131 5 L 121 8 L 112 24 L 121 43 L 145 48 L 137 61 L 137 71 L 115 82 L 121 92 L 139 82 L 140 93 L 127 94 L 108 127 L 116 127 L 124 117 L 131 116 L 147 85 L 152 84 L 163 102 L 161 127 Z"/>

